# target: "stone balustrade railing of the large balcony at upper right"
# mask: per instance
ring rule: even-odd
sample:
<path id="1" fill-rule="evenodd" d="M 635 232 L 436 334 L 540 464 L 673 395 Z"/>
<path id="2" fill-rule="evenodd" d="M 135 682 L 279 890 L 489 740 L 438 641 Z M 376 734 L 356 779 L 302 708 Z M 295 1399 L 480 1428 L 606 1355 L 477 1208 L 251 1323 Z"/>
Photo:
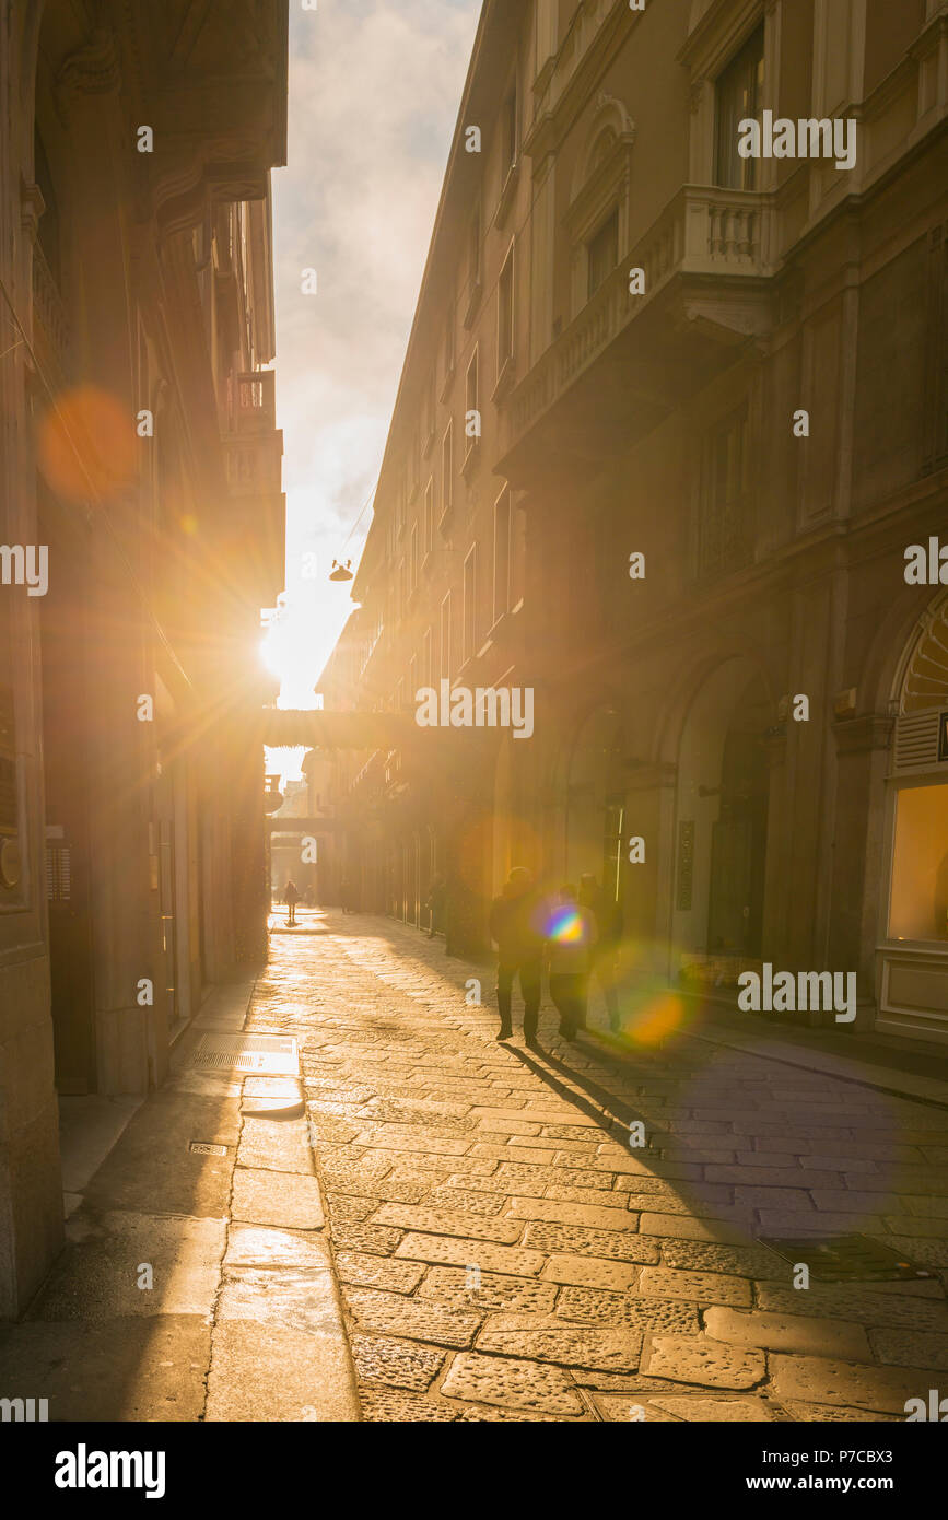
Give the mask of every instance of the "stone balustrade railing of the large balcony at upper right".
<path id="1" fill-rule="evenodd" d="M 510 392 L 510 447 L 678 275 L 726 280 L 772 274 L 770 198 L 749 190 L 684 185 L 565 331 Z M 629 271 L 644 271 L 644 293 L 629 292 Z"/>

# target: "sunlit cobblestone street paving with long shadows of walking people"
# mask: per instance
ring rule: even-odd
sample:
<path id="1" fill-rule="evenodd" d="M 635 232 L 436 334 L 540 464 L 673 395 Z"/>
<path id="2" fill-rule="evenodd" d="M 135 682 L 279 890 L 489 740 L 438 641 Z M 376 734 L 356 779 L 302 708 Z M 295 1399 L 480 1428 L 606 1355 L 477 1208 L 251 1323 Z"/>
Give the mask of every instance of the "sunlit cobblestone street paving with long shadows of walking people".
<path id="1" fill-rule="evenodd" d="M 884 1421 L 943 1382 L 945 1110 L 548 1009 L 500 1046 L 441 941 L 273 926 L 248 1028 L 301 1041 L 366 1420 Z M 796 1290 L 755 1243 L 857 1231 L 931 1278 Z"/>

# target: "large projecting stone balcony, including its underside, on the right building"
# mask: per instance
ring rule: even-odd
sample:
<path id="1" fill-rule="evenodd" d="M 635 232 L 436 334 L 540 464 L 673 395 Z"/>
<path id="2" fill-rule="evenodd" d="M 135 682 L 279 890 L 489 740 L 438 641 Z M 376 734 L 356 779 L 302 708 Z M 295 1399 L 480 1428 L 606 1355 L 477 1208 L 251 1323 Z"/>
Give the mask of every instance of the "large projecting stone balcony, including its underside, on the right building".
<path id="1" fill-rule="evenodd" d="M 630 295 L 629 271 L 644 271 Z M 501 403 L 497 473 L 627 447 L 770 325 L 772 201 L 684 185 Z M 561 401 L 570 397 L 570 406 Z"/>

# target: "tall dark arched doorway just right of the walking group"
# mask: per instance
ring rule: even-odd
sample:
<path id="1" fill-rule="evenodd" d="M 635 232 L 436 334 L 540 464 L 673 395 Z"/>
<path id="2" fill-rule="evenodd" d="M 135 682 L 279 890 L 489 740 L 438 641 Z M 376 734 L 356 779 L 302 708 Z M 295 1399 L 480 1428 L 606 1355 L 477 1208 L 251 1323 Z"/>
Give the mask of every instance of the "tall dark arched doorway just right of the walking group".
<path id="1" fill-rule="evenodd" d="M 725 661 L 691 702 L 681 737 L 672 939 L 688 970 L 737 979 L 761 955 L 770 702 L 757 666 Z"/>

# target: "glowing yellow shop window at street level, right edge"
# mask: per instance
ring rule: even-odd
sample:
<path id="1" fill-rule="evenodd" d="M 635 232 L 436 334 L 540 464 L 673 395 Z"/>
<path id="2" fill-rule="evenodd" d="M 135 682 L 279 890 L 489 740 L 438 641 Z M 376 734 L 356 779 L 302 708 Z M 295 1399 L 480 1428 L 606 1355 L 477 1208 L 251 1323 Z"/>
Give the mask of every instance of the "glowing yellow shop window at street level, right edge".
<path id="1" fill-rule="evenodd" d="M 896 796 L 890 939 L 948 939 L 948 786 Z"/>

